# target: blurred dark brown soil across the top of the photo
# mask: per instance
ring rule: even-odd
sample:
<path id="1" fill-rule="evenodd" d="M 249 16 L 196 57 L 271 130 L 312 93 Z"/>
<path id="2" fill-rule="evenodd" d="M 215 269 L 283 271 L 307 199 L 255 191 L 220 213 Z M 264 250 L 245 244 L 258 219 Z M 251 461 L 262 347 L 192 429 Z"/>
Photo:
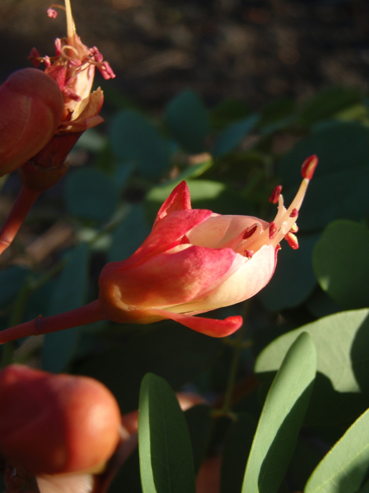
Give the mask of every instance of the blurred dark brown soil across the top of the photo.
<path id="1" fill-rule="evenodd" d="M 46 0 L 1 0 L 2 79 L 52 55 L 65 16 Z M 72 0 L 77 32 L 117 73 L 110 87 L 161 109 L 183 88 L 209 105 L 306 98 L 330 85 L 368 88 L 368 0 Z M 96 78 L 98 78 L 97 76 Z M 98 82 L 101 82 L 101 77 Z"/>

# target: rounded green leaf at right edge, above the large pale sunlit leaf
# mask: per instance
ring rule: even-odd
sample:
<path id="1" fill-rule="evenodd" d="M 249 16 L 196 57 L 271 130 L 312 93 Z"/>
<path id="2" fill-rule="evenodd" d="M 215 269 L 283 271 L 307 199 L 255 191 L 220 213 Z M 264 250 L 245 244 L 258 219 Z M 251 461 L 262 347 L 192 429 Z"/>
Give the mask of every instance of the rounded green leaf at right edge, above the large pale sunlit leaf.
<path id="1" fill-rule="evenodd" d="M 369 305 L 368 251 L 368 228 L 347 220 L 329 224 L 314 247 L 316 278 L 343 309 Z"/>

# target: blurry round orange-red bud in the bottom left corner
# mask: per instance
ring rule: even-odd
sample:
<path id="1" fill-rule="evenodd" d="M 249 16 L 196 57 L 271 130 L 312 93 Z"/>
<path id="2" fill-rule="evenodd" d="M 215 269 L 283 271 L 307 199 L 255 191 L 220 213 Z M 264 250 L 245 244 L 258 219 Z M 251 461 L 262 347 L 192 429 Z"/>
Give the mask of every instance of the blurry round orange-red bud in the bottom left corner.
<path id="1" fill-rule="evenodd" d="M 1 454 L 31 473 L 98 470 L 119 442 L 119 406 L 92 378 L 10 365 L 0 400 Z"/>

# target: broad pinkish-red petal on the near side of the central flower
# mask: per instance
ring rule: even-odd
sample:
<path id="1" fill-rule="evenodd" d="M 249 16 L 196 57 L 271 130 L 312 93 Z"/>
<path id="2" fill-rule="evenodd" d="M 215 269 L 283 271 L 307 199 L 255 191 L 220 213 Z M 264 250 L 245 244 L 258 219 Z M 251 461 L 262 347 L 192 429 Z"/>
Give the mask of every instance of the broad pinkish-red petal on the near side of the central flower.
<path id="1" fill-rule="evenodd" d="M 104 304 L 106 298 L 110 300 L 107 304 L 112 304 L 114 300 L 122 310 L 127 306 L 129 310 L 143 310 L 192 304 L 199 298 L 203 301 L 239 267 L 240 262 L 233 265 L 236 257 L 242 263 L 248 261 L 230 248 L 180 245 L 131 268 L 126 268 L 124 261 L 110 263 L 100 275 L 100 292 L 104 293 L 100 301 Z M 179 311 L 187 310 L 179 306 Z"/>

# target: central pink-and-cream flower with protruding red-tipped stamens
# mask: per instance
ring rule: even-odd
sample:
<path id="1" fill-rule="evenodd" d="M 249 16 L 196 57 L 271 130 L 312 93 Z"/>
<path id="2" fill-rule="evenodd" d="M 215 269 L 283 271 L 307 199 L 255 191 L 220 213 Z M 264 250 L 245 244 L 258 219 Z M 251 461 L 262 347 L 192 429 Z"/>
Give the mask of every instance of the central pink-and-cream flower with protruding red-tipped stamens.
<path id="1" fill-rule="evenodd" d="M 315 156 L 309 158 L 316 166 Z M 311 164 L 310 163 L 310 164 Z M 312 166 L 311 164 L 311 166 Z M 151 323 L 170 318 L 215 337 L 237 330 L 241 317 L 193 317 L 244 301 L 271 279 L 279 242 L 298 247 L 296 211 L 303 202 L 311 166 L 288 209 L 278 193 L 276 218 L 221 215 L 191 209 L 186 183 L 160 208 L 149 237 L 133 255 L 107 264 L 99 279 L 99 303 L 116 322 Z M 305 171 L 304 171 L 305 170 Z"/>

